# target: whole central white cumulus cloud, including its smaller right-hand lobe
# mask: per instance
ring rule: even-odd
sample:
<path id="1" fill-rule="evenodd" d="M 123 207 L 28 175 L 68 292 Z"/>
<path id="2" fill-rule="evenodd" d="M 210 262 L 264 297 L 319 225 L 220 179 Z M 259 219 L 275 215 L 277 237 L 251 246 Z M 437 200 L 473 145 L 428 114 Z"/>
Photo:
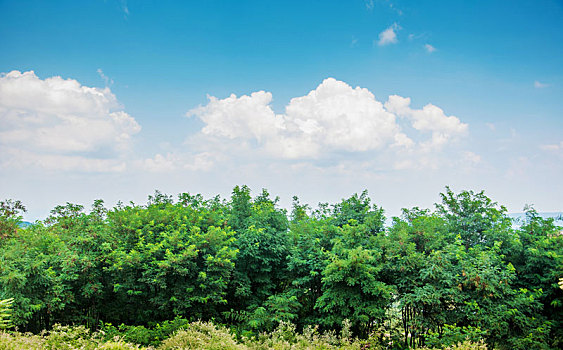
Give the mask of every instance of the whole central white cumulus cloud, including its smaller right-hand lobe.
<path id="1" fill-rule="evenodd" d="M 265 91 L 209 96 L 207 105 L 187 113 L 205 124 L 193 144 L 219 152 L 237 148 L 239 154 L 256 150 L 285 159 L 320 159 L 340 152 L 439 150 L 468 128 L 432 104 L 412 109 L 409 98 L 391 96 L 383 105 L 369 90 L 333 78 L 291 99 L 282 114 L 273 111 L 271 102 L 272 94 Z M 407 117 L 414 130 L 431 138 L 415 143 L 397 116 Z"/>

